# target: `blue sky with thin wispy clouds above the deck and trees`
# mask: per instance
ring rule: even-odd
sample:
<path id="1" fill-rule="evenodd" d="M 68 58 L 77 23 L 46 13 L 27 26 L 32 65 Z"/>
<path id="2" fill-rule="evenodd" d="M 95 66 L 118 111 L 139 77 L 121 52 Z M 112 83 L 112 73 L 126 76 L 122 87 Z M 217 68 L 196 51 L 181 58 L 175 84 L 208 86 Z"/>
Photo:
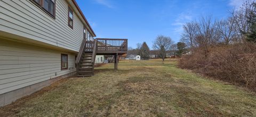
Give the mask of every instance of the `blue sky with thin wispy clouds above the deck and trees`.
<path id="1" fill-rule="evenodd" d="M 182 25 L 201 16 L 225 19 L 243 0 L 76 0 L 96 38 L 129 39 L 129 47 L 157 35 L 179 42 Z"/>

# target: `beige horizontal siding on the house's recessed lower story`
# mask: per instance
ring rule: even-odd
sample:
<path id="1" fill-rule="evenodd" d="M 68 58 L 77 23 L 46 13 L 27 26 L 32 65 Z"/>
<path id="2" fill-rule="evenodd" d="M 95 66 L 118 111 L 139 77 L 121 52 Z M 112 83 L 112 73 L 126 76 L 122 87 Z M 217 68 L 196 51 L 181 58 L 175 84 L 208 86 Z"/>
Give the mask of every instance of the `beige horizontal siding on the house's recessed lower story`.
<path id="1" fill-rule="evenodd" d="M 68 55 L 67 70 L 61 70 L 61 53 Z M 0 38 L 0 94 L 74 71 L 73 53 Z"/>

